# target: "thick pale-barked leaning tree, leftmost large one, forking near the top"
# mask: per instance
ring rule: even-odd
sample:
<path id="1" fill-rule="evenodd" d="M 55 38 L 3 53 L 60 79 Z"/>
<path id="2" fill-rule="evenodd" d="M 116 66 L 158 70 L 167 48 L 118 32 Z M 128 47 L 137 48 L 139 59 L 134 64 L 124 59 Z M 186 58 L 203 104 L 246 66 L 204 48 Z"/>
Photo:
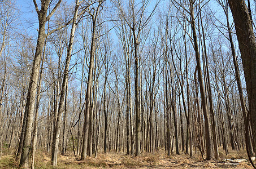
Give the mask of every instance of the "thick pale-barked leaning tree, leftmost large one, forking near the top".
<path id="1" fill-rule="evenodd" d="M 36 0 L 33 0 L 34 7 L 36 8 L 36 12 L 38 15 L 38 38 L 37 38 L 37 46 L 36 46 L 36 53 L 34 54 L 31 78 L 29 81 L 28 87 L 28 95 L 27 95 L 27 103 L 25 106 L 26 119 L 25 122 L 25 132 L 24 132 L 24 141 L 23 141 L 23 149 L 21 153 L 20 159 L 20 167 L 28 168 L 28 158 L 31 146 L 31 132 L 32 132 L 32 124 L 33 124 L 33 115 L 34 115 L 34 101 L 36 100 L 36 91 L 37 91 L 37 81 L 38 81 L 38 74 L 40 69 L 40 62 L 41 62 L 41 54 L 42 49 L 44 47 L 44 42 L 46 38 L 45 33 L 45 24 L 47 21 L 50 20 L 50 17 L 53 16 L 54 12 L 59 7 L 62 0 L 59 0 L 57 4 L 54 6 L 53 10 L 48 11 L 50 6 L 50 0 L 42 1 L 41 3 L 41 10 L 38 9 L 38 5 Z"/>

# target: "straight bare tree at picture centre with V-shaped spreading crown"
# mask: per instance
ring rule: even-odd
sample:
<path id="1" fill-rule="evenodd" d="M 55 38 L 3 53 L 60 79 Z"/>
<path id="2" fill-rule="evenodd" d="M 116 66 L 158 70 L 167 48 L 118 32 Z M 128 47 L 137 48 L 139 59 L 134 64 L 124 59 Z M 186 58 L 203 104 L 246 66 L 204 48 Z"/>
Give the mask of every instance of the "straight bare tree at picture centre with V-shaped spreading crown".
<path id="1" fill-rule="evenodd" d="M 140 44 L 140 35 L 141 31 L 149 23 L 149 20 L 154 14 L 155 8 L 158 3 L 155 3 L 153 10 L 150 12 L 149 16 L 145 18 L 145 9 L 149 6 L 149 0 L 143 0 L 140 3 L 135 3 L 134 0 L 129 1 L 128 10 L 124 11 L 122 7 L 122 2 L 119 0 L 115 2 L 116 7 L 120 12 L 120 17 L 125 23 L 129 26 L 132 31 L 133 37 L 133 56 L 134 56 L 134 91 L 135 91 L 135 155 L 140 156 L 140 140 L 141 140 L 141 114 L 140 114 L 140 86 L 139 86 L 139 59 L 138 55 L 139 44 Z M 138 6 L 140 5 L 140 6 Z M 136 10 L 139 10 L 137 12 Z M 128 16 L 127 16 L 128 14 Z M 132 119 L 131 119 L 132 120 Z"/>

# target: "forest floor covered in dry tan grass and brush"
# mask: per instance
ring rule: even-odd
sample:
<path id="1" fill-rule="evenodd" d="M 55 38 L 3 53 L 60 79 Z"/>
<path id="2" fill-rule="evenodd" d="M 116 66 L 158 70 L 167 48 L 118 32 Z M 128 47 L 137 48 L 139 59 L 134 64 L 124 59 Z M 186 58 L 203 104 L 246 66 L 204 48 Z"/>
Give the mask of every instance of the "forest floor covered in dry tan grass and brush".
<path id="1" fill-rule="evenodd" d="M 51 166 L 50 153 L 37 150 L 35 168 L 253 168 L 251 167 L 245 150 L 240 152 L 230 151 L 225 155 L 219 150 L 220 159 L 204 161 L 197 152 L 193 152 L 193 158 L 183 152 L 180 155 L 171 154 L 167 157 L 163 150 L 159 153 L 142 153 L 141 157 L 124 155 L 123 153 L 98 153 L 97 158 L 86 158 L 85 161 L 77 161 L 72 152 L 58 156 L 58 166 Z M 3 149 L 0 159 L 0 168 L 18 168 L 19 164 L 14 159 L 14 150 Z M 224 162 L 224 159 L 246 159 L 244 162 Z"/>

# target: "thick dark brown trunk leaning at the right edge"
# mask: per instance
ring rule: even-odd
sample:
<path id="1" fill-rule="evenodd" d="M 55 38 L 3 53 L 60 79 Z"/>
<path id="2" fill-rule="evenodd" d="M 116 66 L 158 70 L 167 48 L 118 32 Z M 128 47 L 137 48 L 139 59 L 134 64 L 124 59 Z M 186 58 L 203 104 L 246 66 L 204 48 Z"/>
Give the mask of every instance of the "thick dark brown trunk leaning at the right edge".
<path id="1" fill-rule="evenodd" d="M 236 35 L 244 67 L 246 90 L 249 101 L 248 117 L 256 126 L 256 42 L 245 1 L 228 0 L 236 26 Z M 246 128 L 247 130 L 247 128 Z M 256 128 L 252 127 L 253 150 L 256 152 Z"/>

